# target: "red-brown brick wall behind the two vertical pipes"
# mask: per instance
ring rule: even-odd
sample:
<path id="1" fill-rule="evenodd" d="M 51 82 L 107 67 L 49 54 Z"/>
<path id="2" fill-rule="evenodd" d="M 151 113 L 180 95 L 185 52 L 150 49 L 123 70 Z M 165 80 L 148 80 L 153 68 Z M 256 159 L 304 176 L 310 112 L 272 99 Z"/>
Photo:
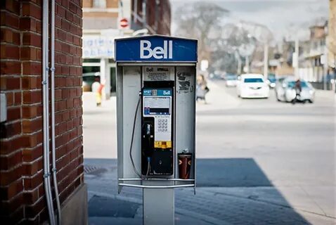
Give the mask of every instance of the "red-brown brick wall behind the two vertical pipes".
<path id="1" fill-rule="evenodd" d="M 39 224 L 47 219 L 41 105 L 42 0 L 3 0 L 0 4 L 0 91 L 6 94 L 8 115 L 1 123 L 0 221 Z M 61 203 L 84 182 L 81 4 L 81 0 L 56 0 L 56 157 Z"/>

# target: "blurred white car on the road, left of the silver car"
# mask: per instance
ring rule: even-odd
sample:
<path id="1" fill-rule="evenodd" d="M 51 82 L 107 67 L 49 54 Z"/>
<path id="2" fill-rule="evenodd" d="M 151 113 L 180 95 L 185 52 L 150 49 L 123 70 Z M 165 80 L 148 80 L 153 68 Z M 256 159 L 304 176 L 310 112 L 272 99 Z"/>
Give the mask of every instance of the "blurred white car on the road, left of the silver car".
<path id="1" fill-rule="evenodd" d="M 269 98 L 269 85 L 263 75 L 241 75 L 237 82 L 237 95 L 240 98 Z"/>

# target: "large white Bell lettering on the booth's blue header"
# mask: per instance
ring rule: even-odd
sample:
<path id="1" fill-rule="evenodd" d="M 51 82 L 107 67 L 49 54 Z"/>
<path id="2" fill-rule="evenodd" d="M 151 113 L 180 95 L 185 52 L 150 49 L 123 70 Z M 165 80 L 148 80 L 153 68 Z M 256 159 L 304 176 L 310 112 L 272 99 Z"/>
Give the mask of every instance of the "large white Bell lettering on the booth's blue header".
<path id="1" fill-rule="evenodd" d="M 154 49 L 150 49 L 151 46 L 152 43 L 150 41 L 140 41 L 140 58 L 173 58 L 173 41 L 163 41 L 163 48 L 157 46 Z"/>

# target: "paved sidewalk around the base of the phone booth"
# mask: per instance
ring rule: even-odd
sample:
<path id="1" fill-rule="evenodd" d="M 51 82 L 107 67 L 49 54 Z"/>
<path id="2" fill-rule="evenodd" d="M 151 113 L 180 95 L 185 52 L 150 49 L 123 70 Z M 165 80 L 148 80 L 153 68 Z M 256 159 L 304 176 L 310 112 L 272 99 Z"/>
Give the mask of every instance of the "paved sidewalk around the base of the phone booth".
<path id="1" fill-rule="evenodd" d="M 116 161 L 85 160 L 84 164 L 89 188 L 89 224 L 142 224 L 142 191 L 123 188 L 117 194 Z M 198 187 L 196 195 L 193 188 L 176 189 L 175 213 L 176 224 L 336 222 L 335 214 L 325 212 L 314 198 L 306 195 L 304 188 L 275 186 Z"/>

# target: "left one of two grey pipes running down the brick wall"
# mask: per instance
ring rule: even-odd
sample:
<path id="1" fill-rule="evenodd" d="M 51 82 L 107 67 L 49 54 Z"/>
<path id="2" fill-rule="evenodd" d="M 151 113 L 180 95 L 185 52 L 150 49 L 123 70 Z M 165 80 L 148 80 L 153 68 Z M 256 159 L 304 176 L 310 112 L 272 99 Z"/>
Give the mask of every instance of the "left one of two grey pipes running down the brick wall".
<path id="1" fill-rule="evenodd" d="M 49 0 L 43 1 L 43 31 L 42 31 L 42 94 L 43 94 L 43 160 L 44 160 L 44 192 L 46 195 L 46 206 L 49 213 L 49 223 L 55 224 L 55 215 L 53 212 L 53 197 L 51 194 L 50 165 L 49 165 L 49 60 L 48 60 L 48 17 Z"/>

